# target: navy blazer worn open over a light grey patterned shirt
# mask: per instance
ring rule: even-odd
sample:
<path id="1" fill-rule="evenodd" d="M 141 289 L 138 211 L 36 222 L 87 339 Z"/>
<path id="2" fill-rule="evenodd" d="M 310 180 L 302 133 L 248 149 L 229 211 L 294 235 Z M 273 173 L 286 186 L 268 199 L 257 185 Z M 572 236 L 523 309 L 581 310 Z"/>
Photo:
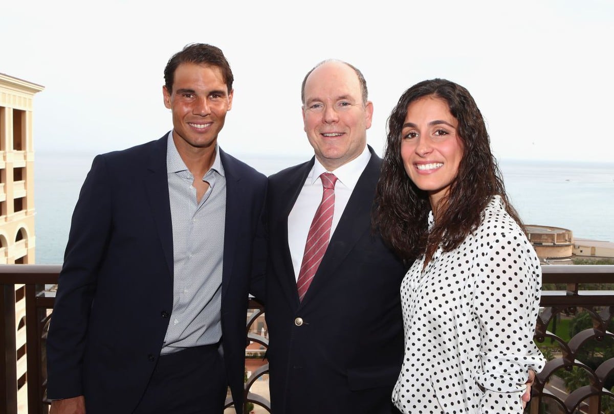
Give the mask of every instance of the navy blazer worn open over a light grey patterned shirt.
<path id="1" fill-rule="evenodd" d="M 166 137 L 96 156 L 72 216 L 47 339 L 47 396 L 83 394 L 88 414 L 132 412 L 160 356 L 173 309 Z M 263 295 L 253 275 L 262 277 L 265 259 L 252 263 L 252 255 L 266 248 L 266 177 L 219 155 L 227 180 L 222 342 L 240 402 L 250 283 Z"/>

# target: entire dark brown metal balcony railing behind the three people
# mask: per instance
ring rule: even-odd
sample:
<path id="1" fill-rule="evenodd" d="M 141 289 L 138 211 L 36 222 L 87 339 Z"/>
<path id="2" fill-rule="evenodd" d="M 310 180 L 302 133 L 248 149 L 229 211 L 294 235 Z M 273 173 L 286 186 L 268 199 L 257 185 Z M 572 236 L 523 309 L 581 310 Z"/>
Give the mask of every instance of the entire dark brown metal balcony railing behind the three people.
<path id="1" fill-rule="evenodd" d="M 27 408 L 21 413 L 47 413 L 45 399 L 44 342 L 53 309 L 55 293 L 45 285 L 55 285 L 60 266 L 0 265 L 0 412 L 18 412 L 18 394 L 27 395 Z M 544 266 L 540 316 L 536 321 L 535 342 L 549 359 L 537 375 L 532 399 L 526 413 L 600 414 L 614 412 L 614 266 Z M 612 283 L 609 290 L 589 290 L 594 284 Z M 15 285 L 25 285 L 27 385 L 15 381 L 23 368 L 17 355 L 15 326 Z M 261 354 L 268 345 L 261 326 L 262 307 L 250 302 L 247 313 L 246 357 Z M 258 325 L 256 325 L 258 323 Z M 608 324 L 610 328 L 608 328 Z M 256 345 L 254 347 L 253 345 Z M 247 362 L 251 358 L 246 359 Z M 270 412 L 268 397 L 258 394 L 260 381 L 268 375 L 268 366 L 248 364 L 253 368 L 246 379 L 246 401 L 258 412 Z M 19 366 L 19 367 L 18 367 Z M 248 368 L 249 369 L 249 368 Z M 227 400 L 227 407 L 232 404 Z M 231 410 L 227 410 L 231 412 Z M 249 412 L 246 410 L 246 412 Z"/>

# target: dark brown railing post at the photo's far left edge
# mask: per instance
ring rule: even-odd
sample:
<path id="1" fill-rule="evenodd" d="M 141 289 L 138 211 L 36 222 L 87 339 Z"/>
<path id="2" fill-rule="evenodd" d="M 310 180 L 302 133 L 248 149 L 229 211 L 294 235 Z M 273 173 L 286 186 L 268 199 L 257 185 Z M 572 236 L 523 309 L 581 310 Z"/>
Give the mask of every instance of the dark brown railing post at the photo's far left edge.
<path id="1" fill-rule="evenodd" d="M 15 285 L 2 286 L 0 295 L 0 331 L 4 332 L 0 343 L 0 410 L 17 414 L 17 339 L 15 338 Z M 1 401 L 4 401 L 3 403 Z"/>

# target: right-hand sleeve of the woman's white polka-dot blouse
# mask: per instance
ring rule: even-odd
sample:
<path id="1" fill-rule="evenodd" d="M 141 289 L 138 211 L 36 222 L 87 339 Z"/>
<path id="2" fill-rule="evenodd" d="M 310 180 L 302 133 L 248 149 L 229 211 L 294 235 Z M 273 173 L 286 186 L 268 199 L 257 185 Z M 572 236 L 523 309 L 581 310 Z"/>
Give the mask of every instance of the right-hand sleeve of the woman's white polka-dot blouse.
<path id="1" fill-rule="evenodd" d="M 480 413 L 521 413 L 528 370 L 540 372 L 545 362 L 533 342 L 542 270 L 519 226 L 496 218 L 486 218 L 474 267 Z"/>

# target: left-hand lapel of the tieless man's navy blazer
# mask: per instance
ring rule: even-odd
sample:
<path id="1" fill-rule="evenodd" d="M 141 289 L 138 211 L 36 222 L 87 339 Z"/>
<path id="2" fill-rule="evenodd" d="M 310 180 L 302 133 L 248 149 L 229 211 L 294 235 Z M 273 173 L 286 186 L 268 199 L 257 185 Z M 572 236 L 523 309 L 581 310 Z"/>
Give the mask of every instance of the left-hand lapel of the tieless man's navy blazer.
<path id="1" fill-rule="evenodd" d="M 145 182 L 149 205 L 152 209 L 155 226 L 160 236 L 162 250 L 168 266 L 169 275 L 173 277 L 173 223 L 171 221 L 171 202 L 168 195 L 168 177 L 166 174 L 166 145 L 168 134 L 153 143 L 149 156 L 149 178 Z"/>

